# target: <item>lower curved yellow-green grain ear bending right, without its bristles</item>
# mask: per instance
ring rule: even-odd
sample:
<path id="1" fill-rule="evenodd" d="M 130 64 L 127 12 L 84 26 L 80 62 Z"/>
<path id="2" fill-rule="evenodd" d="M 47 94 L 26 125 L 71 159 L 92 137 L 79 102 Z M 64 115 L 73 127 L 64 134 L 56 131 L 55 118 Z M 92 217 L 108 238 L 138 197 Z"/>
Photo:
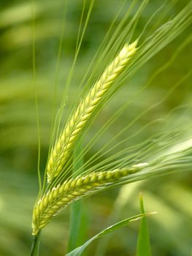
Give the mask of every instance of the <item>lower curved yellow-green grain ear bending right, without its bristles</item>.
<path id="1" fill-rule="evenodd" d="M 32 230 L 37 235 L 42 227 L 45 227 L 57 214 L 74 200 L 96 191 L 97 189 L 112 184 L 128 174 L 136 173 L 147 164 L 134 165 L 129 169 L 116 169 L 97 173 L 90 173 L 87 176 L 78 176 L 64 184 L 47 192 L 34 207 Z"/>

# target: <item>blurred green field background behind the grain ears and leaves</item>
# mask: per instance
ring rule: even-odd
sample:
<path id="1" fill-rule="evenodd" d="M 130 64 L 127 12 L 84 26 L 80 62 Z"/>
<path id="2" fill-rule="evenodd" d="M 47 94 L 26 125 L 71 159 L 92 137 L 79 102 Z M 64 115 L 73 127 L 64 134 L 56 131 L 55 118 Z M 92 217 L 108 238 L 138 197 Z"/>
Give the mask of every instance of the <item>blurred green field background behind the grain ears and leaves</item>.
<path id="1" fill-rule="evenodd" d="M 98 0 L 95 2 L 72 79 L 70 101 L 74 100 L 74 91 L 88 69 L 93 54 L 99 48 L 121 2 L 123 1 Z M 130 2 L 128 1 L 128 4 Z M 167 1 L 168 4 L 171 2 L 176 4 L 167 13 L 168 18 L 188 3 L 188 1 Z M 31 4 L 32 1 L 18 0 L 1 0 L 0 3 L 0 255 L 4 256 L 28 255 L 31 246 L 31 215 L 38 192 L 38 143 L 33 86 Z M 137 26 L 138 34 L 142 31 L 143 24 L 147 23 L 161 4 L 161 0 L 150 1 Z M 36 83 L 41 132 L 41 170 L 43 172 L 49 146 L 55 68 L 66 2 L 39 0 L 34 1 L 34 6 L 36 12 L 34 26 Z M 86 8 L 88 9 L 87 6 Z M 72 65 L 81 11 L 82 1 L 69 1 L 58 69 L 59 95 L 64 91 L 66 75 Z M 126 12 L 126 9 L 124 11 Z M 119 21 L 121 18 L 123 14 L 119 17 Z M 130 80 L 129 86 L 123 87 L 96 118 L 93 127 L 88 131 L 85 143 L 116 110 L 128 99 L 134 98 L 155 70 L 172 58 L 174 52 L 190 33 L 189 28 L 137 72 Z M 111 140 L 142 110 L 161 101 L 166 91 L 190 70 L 191 53 L 191 45 L 186 44 L 172 64 L 157 75 L 153 83 L 142 94 L 132 100 L 118 121 L 96 141 L 86 155 L 87 159 L 99 151 L 99 148 Z M 176 128 L 177 125 L 179 127 L 183 123 L 190 124 L 191 99 L 191 77 L 189 77 L 164 102 L 138 118 L 126 132 L 113 141 L 114 145 L 118 143 L 118 140 L 123 140 L 139 131 L 145 124 L 150 124 L 155 119 L 164 119 L 171 110 L 178 106 L 183 107 L 174 110 L 168 121 L 150 124 L 127 141 L 127 144 L 121 145 L 121 148 L 146 140 L 167 127 L 175 126 Z M 66 108 L 66 115 L 67 112 Z M 87 229 L 82 230 L 81 237 L 90 238 L 106 227 L 107 223 L 112 224 L 123 217 L 138 214 L 139 192 L 142 191 L 145 210 L 158 211 L 155 217 L 148 219 L 153 255 L 191 255 L 191 186 L 191 173 L 182 173 L 181 170 L 181 173 L 174 175 L 139 181 L 136 184 L 93 195 L 83 202 L 85 205 L 84 224 L 86 224 L 84 226 L 87 226 Z M 139 224 L 136 222 L 113 233 L 103 241 L 94 243 L 87 255 L 135 255 L 138 229 Z M 69 208 L 43 230 L 40 255 L 64 255 L 68 235 Z"/>

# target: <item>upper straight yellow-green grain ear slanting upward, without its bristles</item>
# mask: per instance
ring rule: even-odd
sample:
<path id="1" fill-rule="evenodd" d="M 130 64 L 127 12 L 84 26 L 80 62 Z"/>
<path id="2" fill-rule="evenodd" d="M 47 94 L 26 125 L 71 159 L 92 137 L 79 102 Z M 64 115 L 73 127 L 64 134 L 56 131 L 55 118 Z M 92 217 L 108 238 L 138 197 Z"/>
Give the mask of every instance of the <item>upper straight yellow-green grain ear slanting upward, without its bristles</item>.
<path id="1" fill-rule="evenodd" d="M 77 137 L 82 132 L 88 119 L 91 117 L 93 110 L 101 103 L 107 90 L 110 89 L 112 82 L 118 77 L 120 72 L 128 63 L 128 60 L 136 52 L 137 41 L 131 45 L 124 45 L 118 56 L 105 69 L 101 78 L 96 82 L 93 88 L 88 92 L 86 97 L 80 101 L 77 109 L 74 111 L 72 118 L 66 123 L 64 131 L 61 133 L 58 141 L 55 143 L 50 159 L 47 163 L 47 181 L 50 182 L 58 173 L 61 172 L 67 159 L 74 149 Z"/>

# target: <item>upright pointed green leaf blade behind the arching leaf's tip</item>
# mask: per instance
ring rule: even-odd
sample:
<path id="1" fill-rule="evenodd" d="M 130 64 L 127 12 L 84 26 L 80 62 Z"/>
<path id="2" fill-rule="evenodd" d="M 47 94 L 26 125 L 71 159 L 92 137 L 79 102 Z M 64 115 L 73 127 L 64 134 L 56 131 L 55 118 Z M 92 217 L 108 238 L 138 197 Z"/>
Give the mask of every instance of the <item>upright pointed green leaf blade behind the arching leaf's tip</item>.
<path id="1" fill-rule="evenodd" d="M 142 194 L 140 194 L 140 211 L 141 214 L 145 214 Z M 137 256 L 151 256 L 150 236 L 147 229 L 147 220 L 145 217 L 143 217 L 140 222 L 139 237 L 137 240 Z"/>

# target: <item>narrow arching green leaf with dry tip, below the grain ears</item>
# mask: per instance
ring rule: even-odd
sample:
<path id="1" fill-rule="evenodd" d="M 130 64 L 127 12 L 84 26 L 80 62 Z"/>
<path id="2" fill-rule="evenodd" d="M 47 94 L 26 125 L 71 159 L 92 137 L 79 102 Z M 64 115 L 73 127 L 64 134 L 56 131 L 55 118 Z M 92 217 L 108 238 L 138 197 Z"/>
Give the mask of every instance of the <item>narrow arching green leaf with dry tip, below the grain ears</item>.
<path id="1" fill-rule="evenodd" d="M 111 233 L 112 231 L 118 230 L 120 227 L 125 227 L 130 222 L 135 222 L 135 221 L 142 219 L 143 217 L 149 216 L 151 214 L 153 214 L 153 212 L 147 213 L 147 214 L 139 214 L 134 217 L 130 217 L 128 219 L 123 219 L 122 221 L 115 223 L 115 225 L 112 225 L 112 226 L 107 227 L 106 229 L 102 230 L 96 236 L 93 236 L 91 239 L 86 241 L 85 244 L 82 244 L 82 246 L 79 246 L 76 249 L 74 249 L 72 252 L 69 252 L 66 256 L 80 256 L 85 251 L 86 247 L 89 244 L 91 244 L 94 240 L 96 240 L 97 238 L 101 238 L 102 236 L 105 236 L 108 233 Z"/>

